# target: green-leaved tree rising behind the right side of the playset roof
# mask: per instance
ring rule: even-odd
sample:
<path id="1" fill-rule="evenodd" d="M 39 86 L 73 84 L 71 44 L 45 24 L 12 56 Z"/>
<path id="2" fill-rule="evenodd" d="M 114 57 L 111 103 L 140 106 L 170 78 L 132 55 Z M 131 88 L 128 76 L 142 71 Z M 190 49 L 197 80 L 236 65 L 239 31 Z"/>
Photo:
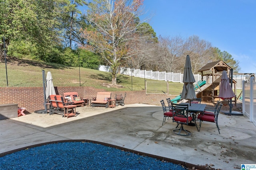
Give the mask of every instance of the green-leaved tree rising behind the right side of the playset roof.
<path id="1" fill-rule="evenodd" d="M 228 64 L 231 68 L 233 68 L 233 72 L 239 72 L 240 71 L 240 66 L 239 66 L 239 61 L 234 60 L 231 54 L 229 54 L 226 51 L 220 51 L 217 47 L 214 47 L 214 53 L 216 54 L 216 59 L 217 60 L 222 60 L 226 64 Z"/>

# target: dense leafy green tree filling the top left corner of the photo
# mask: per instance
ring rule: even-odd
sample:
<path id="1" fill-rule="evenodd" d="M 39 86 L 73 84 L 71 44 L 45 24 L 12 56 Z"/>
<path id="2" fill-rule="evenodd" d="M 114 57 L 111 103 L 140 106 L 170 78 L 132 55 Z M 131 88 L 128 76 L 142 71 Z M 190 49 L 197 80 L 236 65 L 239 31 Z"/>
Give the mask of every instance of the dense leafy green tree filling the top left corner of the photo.
<path id="1" fill-rule="evenodd" d="M 63 0 L 5 0 L 0 7 L 0 37 L 29 41 L 44 50 L 58 42 Z M 44 51 L 42 50 L 42 51 Z"/>

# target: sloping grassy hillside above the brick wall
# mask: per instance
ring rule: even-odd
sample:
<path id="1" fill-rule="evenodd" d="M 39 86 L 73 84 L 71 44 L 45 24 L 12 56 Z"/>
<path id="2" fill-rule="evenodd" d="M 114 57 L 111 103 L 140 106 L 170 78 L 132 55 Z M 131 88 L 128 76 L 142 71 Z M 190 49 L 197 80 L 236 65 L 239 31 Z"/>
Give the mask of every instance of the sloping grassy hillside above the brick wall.
<path id="1" fill-rule="evenodd" d="M 52 73 L 54 86 L 92 86 L 103 88 L 109 91 L 144 90 L 144 78 L 126 76 L 118 74 L 117 82 L 119 86 L 111 87 L 111 77 L 109 72 L 92 70 L 80 67 L 68 67 L 61 64 L 31 61 L 26 59 L 7 59 L 7 77 L 9 87 L 42 87 L 42 70 L 45 74 Z M 146 79 L 146 81 L 158 81 Z M 4 57 L 0 58 L 0 87 L 6 87 L 6 67 Z"/>

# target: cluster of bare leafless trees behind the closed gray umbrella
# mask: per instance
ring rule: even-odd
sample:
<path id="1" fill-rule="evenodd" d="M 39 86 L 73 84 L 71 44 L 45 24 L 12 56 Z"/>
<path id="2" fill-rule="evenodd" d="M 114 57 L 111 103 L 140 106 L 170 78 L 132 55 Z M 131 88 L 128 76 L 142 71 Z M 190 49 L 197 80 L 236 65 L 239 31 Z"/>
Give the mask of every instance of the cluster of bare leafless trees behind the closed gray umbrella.
<path id="1" fill-rule="evenodd" d="M 180 36 L 160 36 L 157 53 L 148 58 L 152 63 L 149 66 L 160 71 L 182 72 L 186 55 L 190 55 L 193 73 L 213 60 L 211 44 L 199 39 L 198 36 L 194 35 L 187 39 Z"/>

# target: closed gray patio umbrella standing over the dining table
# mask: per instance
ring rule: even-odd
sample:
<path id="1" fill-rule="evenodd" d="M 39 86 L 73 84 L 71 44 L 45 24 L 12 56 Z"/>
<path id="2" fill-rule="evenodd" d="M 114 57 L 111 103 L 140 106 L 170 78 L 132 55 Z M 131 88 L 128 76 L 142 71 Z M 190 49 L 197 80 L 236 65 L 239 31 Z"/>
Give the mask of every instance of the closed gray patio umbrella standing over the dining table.
<path id="1" fill-rule="evenodd" d="M 184 66 L 183 73 L 183 89 L 181 93 L 181 98 L 186 100 L 193 100 L 196 98 L 196 92 L 194 90 L 194 82 L 196 82 L 194 75 L 192 73 L 192 66 L 190 62 L 190 57 L 187 55 L 186 63 Z"/>

